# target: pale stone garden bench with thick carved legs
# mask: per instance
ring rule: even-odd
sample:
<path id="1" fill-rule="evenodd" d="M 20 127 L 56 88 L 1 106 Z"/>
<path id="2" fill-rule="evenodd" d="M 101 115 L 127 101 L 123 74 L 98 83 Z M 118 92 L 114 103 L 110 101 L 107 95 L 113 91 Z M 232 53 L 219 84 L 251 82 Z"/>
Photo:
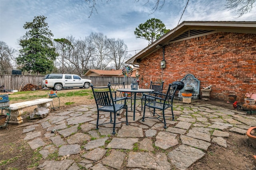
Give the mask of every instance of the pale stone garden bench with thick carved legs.
<path id="1" fill-rule="evenodd" d="M 52 99 L 36 99 L 32 101 L 24 101 L 21 103 L 10 104 L 9 108 L 11 114 L 9 124 L 20 124 L 23 122 L 23 119 L 21 117 L 23 113 L 23 108 L 37 105 L 37 107 L 45 107 L 48 109 L 50 107 L 51 101 Z M 9 108 L 6 108 L 5 110 L 8 110 Z"/>

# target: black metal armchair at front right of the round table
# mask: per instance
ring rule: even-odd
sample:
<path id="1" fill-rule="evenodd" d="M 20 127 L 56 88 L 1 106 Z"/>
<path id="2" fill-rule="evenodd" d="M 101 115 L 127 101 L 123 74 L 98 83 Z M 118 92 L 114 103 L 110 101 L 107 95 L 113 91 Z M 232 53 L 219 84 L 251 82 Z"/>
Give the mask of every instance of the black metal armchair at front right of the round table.
<path id="1" fill-rule="evenodd" d="M 143 112 L 142 121 L 144 122 L 144 119 L 145 119 L 146 107 L 149 107 L 149 109 L 153 108 L 154 109 L 154 112 L 153 112 L 154 117 L 150 116 L 150 117 L 147 117 L 147 118 L 158 119 L 159 121 L 164 123 L 164 128 L 166 128 L 166 120 L 165 120 L 164 111 L 169 107 L 172 108 L 172 102 L 173 102 L 174 95 L 175 95 L 175 92 L 177 90 L 177 87 L 178 87 L 178 85 L 176 85 L 176 84 L 169 84 L 169 87 L 168 87 L 168 90 L 167 90 L 166 94 L 164 94 L 164 93 L 155 93 L 156 96 L 151 96 L 151 95 L 144 94 L 144 102 L 145 103 L 144 103 L 144 112 Z M 160 97 L 158 97 L 158 95 Z M 151 99 L 149 99 L 149 98 L 152 98 L 152 101 L 150 101 Z M 162 116 L 158 115 L 155 112 L 156 109 L 159 109 L 159 110 L 162 111 Z M 155 115 L 157 115 L 157 117 L 155 117 Z M 160 120 L 159 119 L 160 117 L 163 117 L 164 121 Z M 174 121 L 173 110 L 172 110 L 172 121 Z"/>

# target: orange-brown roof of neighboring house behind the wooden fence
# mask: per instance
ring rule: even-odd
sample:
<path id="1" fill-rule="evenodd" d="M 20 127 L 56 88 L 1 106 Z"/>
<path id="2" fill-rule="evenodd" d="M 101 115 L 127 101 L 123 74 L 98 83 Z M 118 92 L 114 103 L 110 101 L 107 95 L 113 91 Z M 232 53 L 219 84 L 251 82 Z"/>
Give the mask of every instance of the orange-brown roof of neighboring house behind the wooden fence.
<path id="1" fill-rule="evenodd" d="M 133 68 L 132 69 L 132 77 L 135 77 L 136 70 L 139 69 Z M 94 73 L 96 76 L 120 76 L 124 77 L 122 70 L 96 70 L 96 69 L 90 69 L 88 70 L 84 75 L 88 76 L 90 74 Z"/>

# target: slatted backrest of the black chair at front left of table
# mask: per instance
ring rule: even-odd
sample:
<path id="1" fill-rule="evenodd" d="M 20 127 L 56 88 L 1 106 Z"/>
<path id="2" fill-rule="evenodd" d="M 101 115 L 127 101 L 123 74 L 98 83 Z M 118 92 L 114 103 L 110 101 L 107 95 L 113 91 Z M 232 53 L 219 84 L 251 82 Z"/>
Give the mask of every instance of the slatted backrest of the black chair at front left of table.
<path id="1" fill-rule="evenodd" d="M 97 105 L 98 106 L 113 106 L 114 101 L 112 97 L 112 91 L 110 89 L 110 85 L 105 87 L 92 87 L 92 93 Z"/>

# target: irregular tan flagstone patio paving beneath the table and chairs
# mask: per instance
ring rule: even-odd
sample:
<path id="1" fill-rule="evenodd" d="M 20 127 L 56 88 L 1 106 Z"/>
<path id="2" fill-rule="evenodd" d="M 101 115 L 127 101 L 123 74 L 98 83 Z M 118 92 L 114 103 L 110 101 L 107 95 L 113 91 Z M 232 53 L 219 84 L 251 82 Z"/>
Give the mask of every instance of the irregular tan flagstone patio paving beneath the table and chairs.
<path id="1" fill-rule="evenodd" d="M 40 149 L 44 161 L 38 168 L 42 170 L 184 170 L 207 154 L 211 144 L 226 148 L 230 132 L 245 134 L 250 126 L 256 126 L 256 118 L 244 112 L 209 104 L 174 103 L 175 121 L 167 119 L 166 129 L 157 119 L 142 122 L 140 105 L 136 121 L 132 121 L 129 108 L 129 125 L 117 124 L 116 135 L 112 134 L 112 124 L 96 130 L 96 105 L 54 111 L 19 127 L 26 134 L 24 141 L 33 150 Z M 146 115 L 151 113 L 146 110 Z M 166 115 L 171 116 L 170 110 Z M 117 122 L 124 120 L 123 111 Z M 100 113 L 100 123 L 109 121 L 109 113 Z M 58 158 L 50 160 L 51 154 Z"/>

